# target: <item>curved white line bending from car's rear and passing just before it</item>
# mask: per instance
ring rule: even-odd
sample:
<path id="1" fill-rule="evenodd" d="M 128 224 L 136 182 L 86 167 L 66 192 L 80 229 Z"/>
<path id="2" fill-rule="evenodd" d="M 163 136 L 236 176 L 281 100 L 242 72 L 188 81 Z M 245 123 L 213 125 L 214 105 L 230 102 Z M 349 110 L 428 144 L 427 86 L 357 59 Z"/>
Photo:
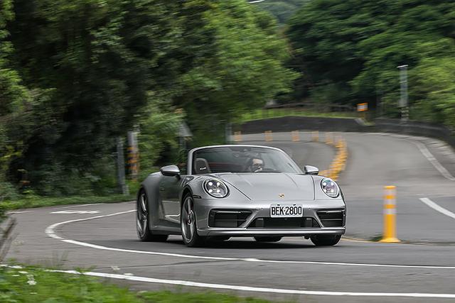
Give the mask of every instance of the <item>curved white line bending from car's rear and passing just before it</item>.
<path id="1" fill-rule="evenodd" d="M 436 266 L 436 265 L 390 265 L 390 264 L 369 264 L 369 263 L 342 263 L 342 262 L 319 262 L 319 261 L 296 261 L 296 260 L 266 260 L 266 259 L 257 259 L 257 258 L 228 258 L 228 257 L 212 257 L 212 256 L 205 256 L 205 255 L 186 255 L 181 253 L 164 253 L 158 251 L 149 251 L 149 250 L 132 250 L 132 249 L 124 249 L 124 248 L 114 248 L 114 247 L 107 247 L 107 246 L 99 246 L 92 243 L 86 243 L 81 241 L 75 241 L 71 239 L 65 239 L 58 236 L 55 233 L 55 228 L 58 226 L 62 226 L 64 224 L 70 224 L 73 222 L 80 222 L 80 221 L 88 221 L 94 219 L 105 218 L 108 216 L 117 216 L 120 214 L 128 214 L 136 209 L 132 209 L 129 211 L 120 211 L 114 214 L 106 214 L 101 216 L 92 216 L 90 218 L 84 219 L 75 219 L 75 220 L 68 220 L 59 223 L 52 224 L 45 228 L 45 233 L 50 236 L 51 238 L 55 238 L 59 241 L 74 244 L 77 246 L 85 246 L 89 248 L 95 248 L 100 250 L 111 250 L 111 251 L 118 251 L 122 253 L 140 253 L 144 255 L 166 255 L 168 257 L 176 257 L 176 258 L 192 258 L 192 259 L 205 259 L 205 260 L 225 260 L 225 261 L 242 261 L 242 262 L 258 262 L 258 263 L 287 263 L 287 264 L 312 264 L 312 265 L 339 265 L 339 266 L 360 266 L 360 267 L 374 267 L 374 268 L 425 268 L 425 269 L 443 269 L 443 270 L 455 270 L 455 266 Z"/>

